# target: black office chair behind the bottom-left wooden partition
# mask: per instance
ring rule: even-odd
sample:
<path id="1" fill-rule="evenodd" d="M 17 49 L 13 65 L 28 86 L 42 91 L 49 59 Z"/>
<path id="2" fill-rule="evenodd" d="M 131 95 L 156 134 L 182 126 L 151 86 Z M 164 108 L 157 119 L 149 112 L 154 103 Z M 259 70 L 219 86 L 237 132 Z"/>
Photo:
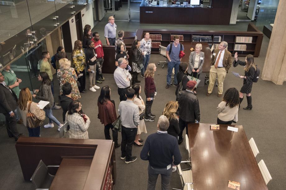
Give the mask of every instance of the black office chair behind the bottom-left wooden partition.
<path id="1" fill-rule="evenodd" d="M 54 175 L 48 173 L 49 167 L 59 167 L 59 165 L 46 166 L 42 160 L 40 160 L 34 174 L 30 181 L 35 185 L 36 190 L 48 190 L 53 182 Z"/>

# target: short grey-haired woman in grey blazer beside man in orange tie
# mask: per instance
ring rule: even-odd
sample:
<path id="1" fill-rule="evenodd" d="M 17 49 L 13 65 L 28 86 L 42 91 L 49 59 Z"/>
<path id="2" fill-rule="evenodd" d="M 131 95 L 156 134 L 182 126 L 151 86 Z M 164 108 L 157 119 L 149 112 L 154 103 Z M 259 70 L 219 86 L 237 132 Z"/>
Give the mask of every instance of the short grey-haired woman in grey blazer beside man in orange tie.
<path id="1" fill-rule="evenodd" d="M 195 78 L 199 78 L 201 72 L 203 72 L 205 53 L 201 52 L 202 49 L 202 44 L 196 44 L 195 51 L 191 52 L 189 57 L 188 75 Z M 193 90 L 193 92 L 195 95 L 197 95 L 196 88 Z"/>

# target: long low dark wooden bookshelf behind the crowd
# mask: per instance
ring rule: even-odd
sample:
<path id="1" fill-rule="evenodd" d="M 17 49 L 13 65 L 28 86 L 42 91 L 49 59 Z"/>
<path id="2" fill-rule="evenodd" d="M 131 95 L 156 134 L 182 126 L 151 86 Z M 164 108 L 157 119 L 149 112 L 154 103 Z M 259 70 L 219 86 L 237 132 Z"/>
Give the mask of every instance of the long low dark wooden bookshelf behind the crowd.
<path id="1" fill-rule="evenodd" d="M 239 56 L 246 56 L 247 54 L 252 54 L 254 57 L 258 57 L 260 54 L 263 33 L 256 28 L 252 23 L 248 24 L 247 31 L 210 31 L 210 30 L 145 30 L 138 29 L 136 36 L 138 39 L 144 38 L 143 34 L 145 31 L 150 32 L 150 34 L 161 34 L 162 40 L 153 40 L 160 41 L 162 46 L 168 46 L 171 40 L 171 35 L 183 35 L 183 42 L 192 42 L 194 36 L 210 36 L 211 41 L 201 41 L 208 44 L 219 44 L 220 42 L 214 42 L 214 36 L 220 36 L 221 41 L 226 41 L 228 43 L 228 51 L 234 55 L 235 52 L 238 52 Z M 251 43 L 242 43 L 236 42 L 236 37 L 252 37 Z M 210 39 L 210 38 L 209 38 Z M 200 42 L 197 42 L 200 43 Z M 234 50 L 235 44 L 246 44 L 246 51 L 236 51 Z M 152 53 L 159 53 L 159 48 L 152 48 Z"/>

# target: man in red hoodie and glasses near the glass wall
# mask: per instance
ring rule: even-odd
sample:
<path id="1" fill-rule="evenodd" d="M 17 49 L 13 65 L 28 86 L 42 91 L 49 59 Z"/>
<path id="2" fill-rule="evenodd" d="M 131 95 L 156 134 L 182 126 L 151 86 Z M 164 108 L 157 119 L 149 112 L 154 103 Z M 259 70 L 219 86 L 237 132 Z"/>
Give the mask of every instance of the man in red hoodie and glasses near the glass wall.
<path id="1" fill-rule="evenodd" d="M 102 75 L 102 64 L 103 64 L 103 48 L 102 48 L 102 43 L 100 41 L 100 35 L 98 34 L 98 32 L 94 32 L 92 34 L 93 39 L 91 39 L 94 42 L 94 52 L 95 52 L 95 56 L 96 56 L 96 75 L 95 75 L 95 80 L 97 83 L 101 84 L 101 81 L 104 81 L 104 77 Z M 100 76 L 100 78 L 99 78 Z"/>

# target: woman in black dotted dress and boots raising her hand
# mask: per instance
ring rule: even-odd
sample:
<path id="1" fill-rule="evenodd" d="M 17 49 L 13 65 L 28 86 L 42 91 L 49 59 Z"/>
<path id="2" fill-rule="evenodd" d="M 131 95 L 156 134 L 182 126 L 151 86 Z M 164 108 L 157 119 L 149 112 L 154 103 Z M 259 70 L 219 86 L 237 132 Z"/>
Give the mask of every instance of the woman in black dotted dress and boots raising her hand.
<path id="1" fill-rule="evenodd" d="M 237 52 L 234 54 L 233 67 L 238 65 L 244 66 L 244 76 L 240 76 L 243 79 L 243 85 L 239 92 L 239 102 L 241 103 L 243 100 L 243 95 L 246 94 L 247 99 L 247 107 L 243 109 L 252 109 L 252 98 L 251 98 L 251 89 L 252 89 L 252 81 L 254 78 L 254 74 L 256 71 L 256 66 L 254 64 L 254 57 L 251 54 L 248 54 L 245 58 L 245 61 L 240 61 L 238 58 Z M 239 103 L 239 106 L 240 106 Z"/>

